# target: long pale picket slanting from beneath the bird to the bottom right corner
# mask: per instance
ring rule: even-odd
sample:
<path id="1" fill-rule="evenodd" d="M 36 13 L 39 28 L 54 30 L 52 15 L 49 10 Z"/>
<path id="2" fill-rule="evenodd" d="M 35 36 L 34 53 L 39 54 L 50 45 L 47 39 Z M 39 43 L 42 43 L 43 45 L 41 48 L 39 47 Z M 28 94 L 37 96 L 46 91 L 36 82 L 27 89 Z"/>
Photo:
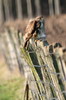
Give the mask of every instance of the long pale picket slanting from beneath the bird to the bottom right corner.
<path id="1" fill-rule="evenodd" d="M 38 43 L 38 46 L 40 46 L 43 49 L 45 56 L 47 56 L 49 54 L 47 48 L 43 46 L 42 42 Z M 63 94 L 61 94 L 62 91 L 61 91 L 60 85 L 58 83 L 57 76 L 55 74 L 51 74 L 51 72 L 56 73 L 51 56 L 49 55 L 49 57 L 43 58 L 43 60 L 44 60 L 45 64 L 48 64 L 49 75 L 52 79 L 53 87 L 54 87 L 54 90 L 55 90 L 58 100 L 65 100 Z"/>

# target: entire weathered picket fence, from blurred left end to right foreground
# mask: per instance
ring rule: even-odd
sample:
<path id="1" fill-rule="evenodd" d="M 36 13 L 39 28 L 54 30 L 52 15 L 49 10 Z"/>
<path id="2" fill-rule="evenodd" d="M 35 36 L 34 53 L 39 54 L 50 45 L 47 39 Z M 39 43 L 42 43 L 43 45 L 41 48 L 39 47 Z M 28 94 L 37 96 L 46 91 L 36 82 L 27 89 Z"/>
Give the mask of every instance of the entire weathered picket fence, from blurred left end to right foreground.
<path id="1" fill-rule="evenodd" d="M 13 44 L 4 44 L 5 50 L 7 51 L 7 47 L 11 48 L 8 50 L 12 51 L 7 54 L 10 57 L 14 55 L 20 71 L 24 70 L 26 76 L 24 100 L 66 100 L 66 49 L 59 43 L 49 45 L 47 41 L 41 41 L 37 46 L 29 44 L 25 50 L 23 38 L 17 30 L 6 29 L 5 34 Z M 8 38 L 2 39 L 3 43 L 6 40 L 10 43 Z M 7 58 L 6 55 L 5 57 Z M 13 67 L 15 61 L 11 59 L 13 62 L 10 66 L 12 64 Z"/>

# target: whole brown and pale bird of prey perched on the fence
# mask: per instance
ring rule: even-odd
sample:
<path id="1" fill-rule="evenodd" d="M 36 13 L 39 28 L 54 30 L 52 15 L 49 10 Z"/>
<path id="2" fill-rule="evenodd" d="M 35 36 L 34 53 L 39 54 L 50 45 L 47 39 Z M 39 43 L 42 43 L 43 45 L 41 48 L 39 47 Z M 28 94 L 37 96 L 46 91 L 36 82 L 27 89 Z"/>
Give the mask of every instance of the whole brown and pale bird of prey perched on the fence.
<path id="1" fill-rule="evenodd" d="M 27 43 L 31 38 L 34 38 L 34 40 L 42 40 L 46 38 L 43 16 L 38 16 L 29 20 L 24 32 L 24 48 L 27 46 Z"/>

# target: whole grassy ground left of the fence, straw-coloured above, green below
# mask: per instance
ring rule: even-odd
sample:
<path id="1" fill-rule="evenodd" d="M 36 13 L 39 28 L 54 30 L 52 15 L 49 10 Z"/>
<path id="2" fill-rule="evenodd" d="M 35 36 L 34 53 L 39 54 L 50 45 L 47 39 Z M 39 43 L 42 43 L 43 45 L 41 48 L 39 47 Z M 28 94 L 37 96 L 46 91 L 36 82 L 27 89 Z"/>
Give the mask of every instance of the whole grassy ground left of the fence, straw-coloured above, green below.
<path id="1" fill-rule="evenodd" d="M 1 59 L 2 58 L 2 59 Z M 25 78 L 17 69 L 10 72 L 0 56 L 0 100 L 23 100 Z"/>

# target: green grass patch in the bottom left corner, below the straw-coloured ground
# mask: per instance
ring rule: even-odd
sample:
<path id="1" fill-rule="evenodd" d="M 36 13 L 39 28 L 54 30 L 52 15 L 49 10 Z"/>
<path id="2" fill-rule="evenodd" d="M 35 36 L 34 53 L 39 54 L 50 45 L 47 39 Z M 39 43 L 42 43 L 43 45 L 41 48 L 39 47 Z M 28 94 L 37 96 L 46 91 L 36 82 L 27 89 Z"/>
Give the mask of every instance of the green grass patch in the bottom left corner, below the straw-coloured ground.
<path id="1" fill-rule="evenodd" d="M 0 82 L 0 100 L 23 100 L 24 79 Z"/>

